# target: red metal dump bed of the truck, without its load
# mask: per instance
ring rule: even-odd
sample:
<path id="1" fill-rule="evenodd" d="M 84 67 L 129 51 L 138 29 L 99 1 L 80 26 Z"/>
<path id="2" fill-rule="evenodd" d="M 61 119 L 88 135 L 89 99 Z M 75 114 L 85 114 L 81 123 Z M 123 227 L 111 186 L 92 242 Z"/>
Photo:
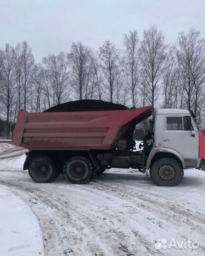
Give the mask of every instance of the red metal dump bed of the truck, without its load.
<path id="1" fill-rule="evenodd" d="M 28 113 L 19 110 L 13 144 L 32 150 L 111 149 L 130 125 L 152 115 L 152 106 L 134 110 Z"/>

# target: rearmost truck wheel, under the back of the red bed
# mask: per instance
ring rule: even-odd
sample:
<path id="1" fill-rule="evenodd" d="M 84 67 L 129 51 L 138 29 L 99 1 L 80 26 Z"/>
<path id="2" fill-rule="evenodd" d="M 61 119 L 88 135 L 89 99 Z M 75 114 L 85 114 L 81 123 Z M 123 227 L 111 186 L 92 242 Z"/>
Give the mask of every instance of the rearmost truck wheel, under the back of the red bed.
<path id="1" fill-rule="evenodd" d="M 28 174 L 38 183 L 48 183 L 57 177 L 56 165 L 48 156 L 36 156 L 30 162 Z"/>

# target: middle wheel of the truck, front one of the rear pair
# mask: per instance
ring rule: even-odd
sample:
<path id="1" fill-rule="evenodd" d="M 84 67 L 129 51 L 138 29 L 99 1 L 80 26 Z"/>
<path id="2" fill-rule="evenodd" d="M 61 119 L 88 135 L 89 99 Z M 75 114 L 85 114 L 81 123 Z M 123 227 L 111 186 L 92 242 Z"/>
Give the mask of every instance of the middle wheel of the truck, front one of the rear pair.
<path id="1" fill-rule="evenodd" d="M 73 156 L 65 163 L 64 175 L 73 184 L 84 184 L 92 177 L 92 166 L 82 156 Z"/>

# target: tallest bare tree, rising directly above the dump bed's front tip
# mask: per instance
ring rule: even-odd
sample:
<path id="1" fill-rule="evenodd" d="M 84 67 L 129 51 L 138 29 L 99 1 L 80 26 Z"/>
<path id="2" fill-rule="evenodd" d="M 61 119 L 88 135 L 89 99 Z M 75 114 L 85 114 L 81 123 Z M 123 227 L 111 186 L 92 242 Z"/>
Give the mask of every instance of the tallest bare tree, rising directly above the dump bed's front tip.
<path id="1" fill-rule="evenodd" d="M 140 60 L 143 80 L 146 82 L 147 100 L 154 105 L 159 91 L 161 76 L 168 64 L 168 46 L 165 37 L 157 27 L 150 27 L 143 32 L 143 41 L 140 47 Z"/>

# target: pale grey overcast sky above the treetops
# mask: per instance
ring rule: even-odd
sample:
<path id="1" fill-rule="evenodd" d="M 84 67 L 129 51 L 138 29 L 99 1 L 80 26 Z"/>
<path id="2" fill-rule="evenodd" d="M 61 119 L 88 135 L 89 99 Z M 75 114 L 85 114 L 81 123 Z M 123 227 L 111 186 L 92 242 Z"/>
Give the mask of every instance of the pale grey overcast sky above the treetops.
<path id="1" fill-rule="evenodd" d="M 0 0 L 0 48 L 27 40 L 37 62 L 78 41 L 122 48 L 124 33 L 153 24 L 170 43 L 192 26 L 205 37 L 205 0 Z"/>

